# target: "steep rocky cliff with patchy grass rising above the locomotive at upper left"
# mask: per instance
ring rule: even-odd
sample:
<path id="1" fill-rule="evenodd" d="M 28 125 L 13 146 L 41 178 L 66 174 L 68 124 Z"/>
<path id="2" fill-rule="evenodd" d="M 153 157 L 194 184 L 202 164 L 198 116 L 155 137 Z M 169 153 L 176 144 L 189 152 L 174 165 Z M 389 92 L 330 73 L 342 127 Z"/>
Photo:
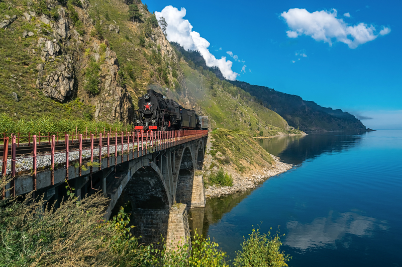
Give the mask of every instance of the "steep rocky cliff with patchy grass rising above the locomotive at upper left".
<path id="1" fill-rule="evenodd" d="M 0 112 L 129 123 L 133 97 L 149 84 L 184 88 L 174 50 L 137 6 L 142 20 L 133 23 L 117 0 L 0 2 L 0 81 L 9 93 Z"/>

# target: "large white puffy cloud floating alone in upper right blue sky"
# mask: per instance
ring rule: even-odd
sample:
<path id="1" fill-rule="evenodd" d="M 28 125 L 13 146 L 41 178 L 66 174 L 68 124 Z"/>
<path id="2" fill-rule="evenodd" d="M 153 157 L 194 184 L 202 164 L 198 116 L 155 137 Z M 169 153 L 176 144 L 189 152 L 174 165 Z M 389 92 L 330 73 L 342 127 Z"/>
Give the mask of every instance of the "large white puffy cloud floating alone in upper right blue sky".
<path id="1" fill-rule="evenodd" d="M 350 26 L 342 19 L 337 18 L 337 11 L 308 12 L 306 9 L 289 9 L 280 15 L 286 22 L 290 31 L 287 31 L 289 38 L 297 38 L 300 35 L 307 35 L 316 41 L 324 41 L 332 46 L 333 40 L 345 43 L 351 49 L 372 41 L 378 37 L 374 26 L 365 23 Z M 382 34 L 390 32 L 389 28 L 383 28 Z"/>

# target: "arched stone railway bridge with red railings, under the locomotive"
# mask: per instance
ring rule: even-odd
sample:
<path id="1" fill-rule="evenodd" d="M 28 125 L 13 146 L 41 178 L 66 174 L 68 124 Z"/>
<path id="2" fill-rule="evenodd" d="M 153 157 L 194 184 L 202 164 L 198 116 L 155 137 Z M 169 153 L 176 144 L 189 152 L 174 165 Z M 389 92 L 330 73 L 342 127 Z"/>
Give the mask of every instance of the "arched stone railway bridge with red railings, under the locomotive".
<path id="1" fill-rule="evenodd" d="M 188 238 L 187 210 L 204 207 L 202 175 L 208 131 L 64 133 L 4 137 L 2 175 L 12 181 L 2 197 L 34 191 L 49 202 L 102 190 L 105 217 L 129 203 L 134 235 L 145 243 Z M 1 141 L 1 139 L 0 139 Z M 7 190 L 10 189 L 11 190 Z"/>

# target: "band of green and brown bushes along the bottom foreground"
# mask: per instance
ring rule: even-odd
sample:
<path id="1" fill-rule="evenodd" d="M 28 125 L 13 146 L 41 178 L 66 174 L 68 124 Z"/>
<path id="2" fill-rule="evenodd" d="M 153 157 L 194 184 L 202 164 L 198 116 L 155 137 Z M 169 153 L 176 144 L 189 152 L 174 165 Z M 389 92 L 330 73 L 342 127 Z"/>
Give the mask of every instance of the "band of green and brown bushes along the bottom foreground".
<path id="1" fill-rule="evenodd" d="M 9 182 L 5 178 L 0 187 Z M 109 221 L 103 219 L 108 199 L 93 194 L 78 201 L 68 184 L 67 199 L 55 208 L 28 194 L 24 201 L 0 200 L 1 266 L 156 266 L 227 267 L 226 252 L 210 238 L 195 233 L 191 242 L 176 249 L 154 249 L 139 244 L 123 208 Z M 235 266 L 287 266 L 279 236 L 253 230 L 234 259 Z M 250 263 L 252 263 L 250 265 Z"/>

